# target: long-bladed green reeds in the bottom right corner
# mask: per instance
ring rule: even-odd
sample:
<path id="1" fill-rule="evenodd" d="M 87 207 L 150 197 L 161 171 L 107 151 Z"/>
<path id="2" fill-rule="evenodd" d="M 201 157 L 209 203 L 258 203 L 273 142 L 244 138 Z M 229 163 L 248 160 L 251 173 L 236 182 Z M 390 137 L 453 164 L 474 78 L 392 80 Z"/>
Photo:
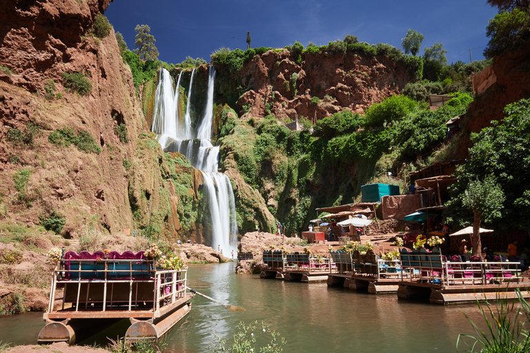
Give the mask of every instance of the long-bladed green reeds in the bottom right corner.
<path id="1" fill-rule="evenodd" d="M 482 331 L 467 314 L 466 319 L 473 326 L 475 335 L 459 334 L 456 347 L 462 343 L 467 346 L 465 352 L 483 353 L 524 353 L 530 352 L 529 330 L 524 327 L 530 322 L 530 304 L 516 289 L 517 301 L 497 295 L 495 303 L 477 301 L 478 309 L 487 330 Z M 519 305 L 516 305 L 519 303 Z M 528 324 L 527 326 L 528 327 Z"/>

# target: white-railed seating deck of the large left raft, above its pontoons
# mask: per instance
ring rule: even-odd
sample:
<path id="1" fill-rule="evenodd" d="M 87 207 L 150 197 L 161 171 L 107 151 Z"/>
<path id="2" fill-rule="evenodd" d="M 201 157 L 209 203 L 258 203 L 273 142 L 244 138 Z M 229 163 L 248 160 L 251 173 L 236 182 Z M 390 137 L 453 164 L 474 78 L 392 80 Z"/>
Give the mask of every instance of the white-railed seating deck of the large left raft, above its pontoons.
<path id="1" fill-rule="evenodd" d="M 133 310 L 150 305 L 153 312 L 186 296 L 187 270 L 155 268 L 145 259 L 69 259 L 58 261 L 52 274 L 48 312 L 54 311 L 57 288 L 66 303 L 81 310 Z"/>

